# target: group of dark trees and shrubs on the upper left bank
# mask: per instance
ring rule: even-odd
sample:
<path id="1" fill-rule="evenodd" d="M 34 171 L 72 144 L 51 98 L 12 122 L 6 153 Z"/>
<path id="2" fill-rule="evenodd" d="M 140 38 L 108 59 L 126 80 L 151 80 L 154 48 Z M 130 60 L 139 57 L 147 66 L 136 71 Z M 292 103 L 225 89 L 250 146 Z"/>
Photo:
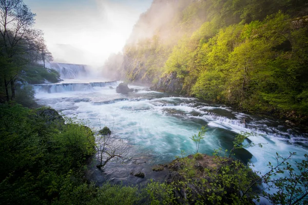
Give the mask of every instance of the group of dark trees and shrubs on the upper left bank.
<path id="1" fill-rule="evenodd" d="M 22 78 L 40 83 L 44 78 L 57 81 L 57 73 L 32 66 L 38 60 L 52 59 L 45 45 L 43 32 L 34 29 L 35 14 L 22 0 L 0 2 L 0 103 L 15 100 Z M 23 76 L 27 70 L 29 76 Z M 45 71 L 45 72 L 44 72 Z"/>

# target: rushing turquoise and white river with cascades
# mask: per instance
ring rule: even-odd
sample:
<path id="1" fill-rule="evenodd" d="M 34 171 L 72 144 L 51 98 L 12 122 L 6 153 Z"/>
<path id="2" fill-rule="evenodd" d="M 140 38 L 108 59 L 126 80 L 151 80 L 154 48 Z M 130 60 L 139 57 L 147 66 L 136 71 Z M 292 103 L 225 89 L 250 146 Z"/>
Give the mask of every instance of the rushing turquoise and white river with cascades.
<path id="1" fill-rule="evenodd" d="M 307 134 L 270 116 L 248 115 L 224 105 L 171 96 L 141 86 L 129 85 L 136 92 L 119 94 L 115 87 L 120 81 L 89 78 L 82 66 L 66 67 L 65 72 L 61 72 L 61 67 L 64 81 L 34 85 L 37 102 L 65 116 L 77 117 L 92 129 L 112 127 L 113 133 L 126 140 L 131 148 L 124 164 L 107 164 L 104 172 L 100 172 L 103 178 L 93 169 L 93 177 L 98 181 L 108 179 L 124 184 L 145 181 L 156 174 L 151 166 L 172 161 L 181 155 L 181 150 L 186 155 L 193 154 L 195 145 L 190 137 L 202 126 L 208 130 L 199 152 L 209 155 L 219 148 L 232 149 L 234 137 L 240 132 L 255 133 L 245 143 L 261 143 L 263 147 L 240 150 L 236 157 L 245 162 L 250 160 L 255 165 L 252 168 L 263 174 L 268 171 L 268 161 L 276 161 L 276 152 L 283 157 L 296 152 L 290 160 L 293 165 L 307 153 Z M 131 176 L 132 169 L 145 172 L 145 179 Z"/>

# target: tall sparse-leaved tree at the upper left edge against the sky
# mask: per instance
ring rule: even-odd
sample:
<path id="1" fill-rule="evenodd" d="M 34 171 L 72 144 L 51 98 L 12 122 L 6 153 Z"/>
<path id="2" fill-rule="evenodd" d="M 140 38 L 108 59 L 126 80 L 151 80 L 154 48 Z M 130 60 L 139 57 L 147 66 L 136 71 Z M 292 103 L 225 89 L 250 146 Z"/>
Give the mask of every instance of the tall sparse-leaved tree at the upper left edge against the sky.
<path id="1" fill-rule="evenodd" d="M 6 100 L 9 101 L 15 97 L 16 76 L 21 71 L 21 66 L 28 62 L 27 54 L 37 49 L 35 40 L 42 36 L 42 31 L 33 29 L 35 14 L 22 0 L 2 0 L 0 14 L 1 78 Z"/>

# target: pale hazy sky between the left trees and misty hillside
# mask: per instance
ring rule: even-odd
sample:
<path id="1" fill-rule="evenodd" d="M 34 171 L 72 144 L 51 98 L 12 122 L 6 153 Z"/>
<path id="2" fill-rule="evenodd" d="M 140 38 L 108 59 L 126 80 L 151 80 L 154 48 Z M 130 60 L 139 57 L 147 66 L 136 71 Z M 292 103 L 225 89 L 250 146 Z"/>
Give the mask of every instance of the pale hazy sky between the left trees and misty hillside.
<path id="1" fill-rule="evenodd" d="M 101 66 L 125 45 L 152 0 L 24 0 L 54 60 Z"/>

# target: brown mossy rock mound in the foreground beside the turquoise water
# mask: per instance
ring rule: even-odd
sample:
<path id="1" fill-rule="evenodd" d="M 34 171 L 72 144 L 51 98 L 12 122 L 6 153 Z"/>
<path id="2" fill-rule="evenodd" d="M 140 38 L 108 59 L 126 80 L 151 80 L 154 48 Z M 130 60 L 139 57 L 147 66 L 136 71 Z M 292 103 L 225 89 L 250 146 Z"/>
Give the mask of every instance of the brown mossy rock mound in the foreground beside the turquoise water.
<path id="1" fill-rule="evenodd" d="M 220 157 L 219 160 L 215 156 L 206 154 L 178 158 L 169 164 L 169 173 L 165 182 L 174 188 L 174 196 L 179 204 L 195 204 L 194 201 L 200 199 L 198 198 L 200 193 L 203 193 L 205 196 L 221 194 L 216 191 L 216 188 L 224 186 L 223 180 L 226 179 L 224 175 L 232 175 L 234 170 L 236 175 L 237 170 L 245 168 L 243 164 L 235 166 L 235 162 L 236 160 L 232 158 Z M 225 169 L 225 166 L 229 166 L 231 169 Z M 246 180 L 248 181 L 256 181 L 259 178 L 253 171 L 247 171 L 246 174 Z M 232 176 L 229 179 L 231 178 Z M 237 187 L 225 185 L 225 199 L 222 202 L 230 204 L 232 200 L 229 200 L 229 196 L 239 194 L 240 190 Z M 188 195 L 190 195 L 190 199 L 185 201 Z M 202 200 L 204 200 L 205 204 L 212 204 L 213 202 L 206 198 Z"/>

